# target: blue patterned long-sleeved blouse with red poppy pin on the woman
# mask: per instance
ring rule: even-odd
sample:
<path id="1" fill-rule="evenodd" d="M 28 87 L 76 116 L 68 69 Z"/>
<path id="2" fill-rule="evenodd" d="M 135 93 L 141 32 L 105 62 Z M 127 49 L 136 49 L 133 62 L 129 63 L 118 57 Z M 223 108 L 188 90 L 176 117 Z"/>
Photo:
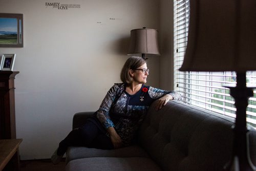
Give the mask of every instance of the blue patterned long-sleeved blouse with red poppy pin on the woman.
<path id="1" fill-rule="evenodd" d="M 115 127 L 124 146 L 128 146 L 131 145 L 151 103 L 165 94 L 172 95 L 175 100 L 181 99 L 181 95 L 175 91 L 144 85 L 136 94 L 130 95 L 125 91 L 124 83 L 116 83 L 108 91 L 95 114 L 105 129 Z"/>

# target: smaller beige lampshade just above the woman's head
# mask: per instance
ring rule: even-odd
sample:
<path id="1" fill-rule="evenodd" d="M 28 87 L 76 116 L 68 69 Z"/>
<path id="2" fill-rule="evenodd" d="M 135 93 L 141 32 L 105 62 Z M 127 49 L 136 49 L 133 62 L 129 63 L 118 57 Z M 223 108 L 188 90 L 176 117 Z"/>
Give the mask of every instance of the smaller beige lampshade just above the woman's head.
<path id="1" fill-rule="evenodd" d="M 156 29 L 146 28 L 131 30 L 130 47 L 127 55 L 160 55 L 157 32 Z"/>

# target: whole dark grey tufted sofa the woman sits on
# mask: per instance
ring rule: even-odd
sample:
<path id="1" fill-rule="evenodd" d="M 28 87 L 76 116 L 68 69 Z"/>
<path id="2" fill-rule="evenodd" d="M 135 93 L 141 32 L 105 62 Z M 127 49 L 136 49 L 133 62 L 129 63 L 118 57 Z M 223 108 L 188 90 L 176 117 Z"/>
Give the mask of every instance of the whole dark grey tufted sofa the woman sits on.
<path id="1" fill-rule="evenodd" d="M 159 111 L 155 105 L 140 127 L 136 145 L 113 150 L 69 147 L 66 170 L 223 169 L 232 153 L 234 119 L 175 100 Z M 91 114 L 75 114 L 73 129 Z M 249 127 L 250 157 L 256 165 L 256 130 Z"/>

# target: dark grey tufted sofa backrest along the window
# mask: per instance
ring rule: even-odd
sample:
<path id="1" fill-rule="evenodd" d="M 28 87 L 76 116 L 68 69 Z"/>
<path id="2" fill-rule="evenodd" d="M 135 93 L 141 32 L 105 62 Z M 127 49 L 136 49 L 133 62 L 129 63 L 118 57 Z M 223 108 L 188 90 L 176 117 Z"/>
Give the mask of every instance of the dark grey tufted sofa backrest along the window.
<path id="1" fill-rule="evenodd" d="M 232 153 L 234 119 L 169 101 L 154 102 L 139 131 L 139 143 L 163 170 L 222 170 Z M 250 155 L 256 164 L 256 131 L 250 131 Z"/>

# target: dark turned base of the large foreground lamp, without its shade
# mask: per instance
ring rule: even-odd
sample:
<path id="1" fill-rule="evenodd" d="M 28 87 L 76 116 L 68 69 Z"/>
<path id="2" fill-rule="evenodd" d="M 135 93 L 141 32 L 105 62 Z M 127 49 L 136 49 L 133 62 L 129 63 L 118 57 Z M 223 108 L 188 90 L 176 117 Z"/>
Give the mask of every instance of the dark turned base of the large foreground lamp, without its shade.
<path id="1" fill-rule="evenodd" d="M 230 95 L 235 100 L 237 108 L 236 123 L 233 127 L 234 140 L 232 158 L 224 166 L 225 170 L 256 170 L 253 166 L 249 155 L 249 130 L 246 126 L 246 108 L 248 98 L 253 96 L 253 89 L 246 87 L 246 73 L 237 73 L 237 87 L 227 87 L 230 89 Z"/>

